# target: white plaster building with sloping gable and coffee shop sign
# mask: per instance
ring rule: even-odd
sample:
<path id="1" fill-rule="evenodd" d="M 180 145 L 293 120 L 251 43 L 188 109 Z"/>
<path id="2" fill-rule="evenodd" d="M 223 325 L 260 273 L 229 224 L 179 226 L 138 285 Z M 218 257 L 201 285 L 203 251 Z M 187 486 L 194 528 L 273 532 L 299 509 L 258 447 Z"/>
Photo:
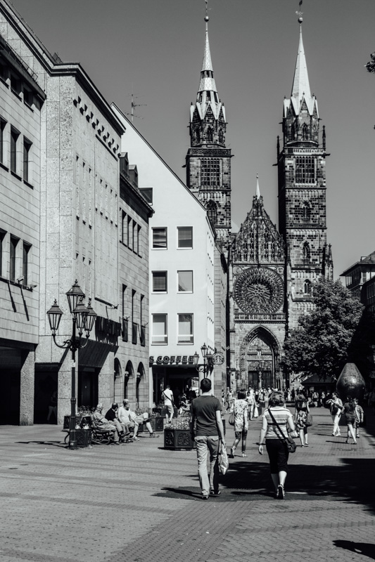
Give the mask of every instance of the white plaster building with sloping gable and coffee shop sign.
<path id="1" fill-rule="evenodd" d="M 136 162 L 139 188 L 155 211 L 150 220 L 148 326 L 150 401 L 158 403 L 166 384 L 178 394 L 198 377 L 193 355 L 201 354 L 203 344 L 215 351 L 215 231 L 201 202 L 119 108 L 112 107 L 126 129 L 122 151 Z M 221 380 L 217 382 L 221 391 Z"/>

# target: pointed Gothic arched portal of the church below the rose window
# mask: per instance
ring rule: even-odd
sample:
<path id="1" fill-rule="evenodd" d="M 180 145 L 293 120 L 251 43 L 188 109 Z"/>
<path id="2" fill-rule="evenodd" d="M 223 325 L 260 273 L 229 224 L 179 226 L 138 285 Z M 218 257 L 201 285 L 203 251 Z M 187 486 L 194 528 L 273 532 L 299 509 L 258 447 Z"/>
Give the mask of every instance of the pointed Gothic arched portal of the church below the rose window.
<path id="1" fill-rule="evenodd" d="M 241 379 L 254 388 L 279 388 L 280 346 L 269 329 L 258 326 L 252 329 L 241 342 L 239 349 Z"/>

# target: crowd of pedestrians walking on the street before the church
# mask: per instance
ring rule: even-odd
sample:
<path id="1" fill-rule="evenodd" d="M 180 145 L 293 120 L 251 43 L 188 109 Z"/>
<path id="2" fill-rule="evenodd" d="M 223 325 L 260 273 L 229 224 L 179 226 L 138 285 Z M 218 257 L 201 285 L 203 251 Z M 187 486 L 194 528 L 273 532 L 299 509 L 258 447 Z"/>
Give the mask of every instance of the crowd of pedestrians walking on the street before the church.
<path id="1" fill-rule="evenodd" d="M 340 436 L 340 420 L 343 416 L 347 426 L 345 443 L 357 443 L 360 438 L 360 426 L 364 424 L 364 410 L 357 398 L 347 396 L 343 402 L 336 392 L 312 391 L 303 388 L 279 391 L 277 388 L 260 389 L 251 386 L 241 389 L 237 396 L 231 388 L 222 392 L 220 400 L 210 393 L 210 379 L 201 381 L 201 396 L 191 403 L 191 433 L 195 436 L 198 458 L 198 478 L 203 499 L 210 495 L 220 495 L 218 488 L 220 448 L 226 455 L 226 443 L 222 426 L 222 408 L 229 410 L 229 424 L 234 426 L 234 443 L 230 448 L 229 458 L 234 458 L 236 447 L 241 443 L 241 455 L 246 457 L 246 438 L 251 419 L 262 415 L 262 427 L 258 443 L 258 452 L 265 450 L 269 458 L 269 470 L 274 486 L 274 497 L 284 499 L 285 483 L 288 474 L 288 457 L 295 451 L 293 438 L 299 438 L 301 447 L 309 447 L 308 427 L 312 425 L 311 408 L 329 407 L 333 430 L 332 436 Z M 310 396 L 309 396 L 310 394 Z M 365 397 L 368 404 L 375 408 L 375 391 Z M 288 410 L 286 402 L 294 404 L 294 412 Z M 220 447 L 221 441 L 221 447 Z M 210 455 L 210 472 L 207 459 Z"/>

